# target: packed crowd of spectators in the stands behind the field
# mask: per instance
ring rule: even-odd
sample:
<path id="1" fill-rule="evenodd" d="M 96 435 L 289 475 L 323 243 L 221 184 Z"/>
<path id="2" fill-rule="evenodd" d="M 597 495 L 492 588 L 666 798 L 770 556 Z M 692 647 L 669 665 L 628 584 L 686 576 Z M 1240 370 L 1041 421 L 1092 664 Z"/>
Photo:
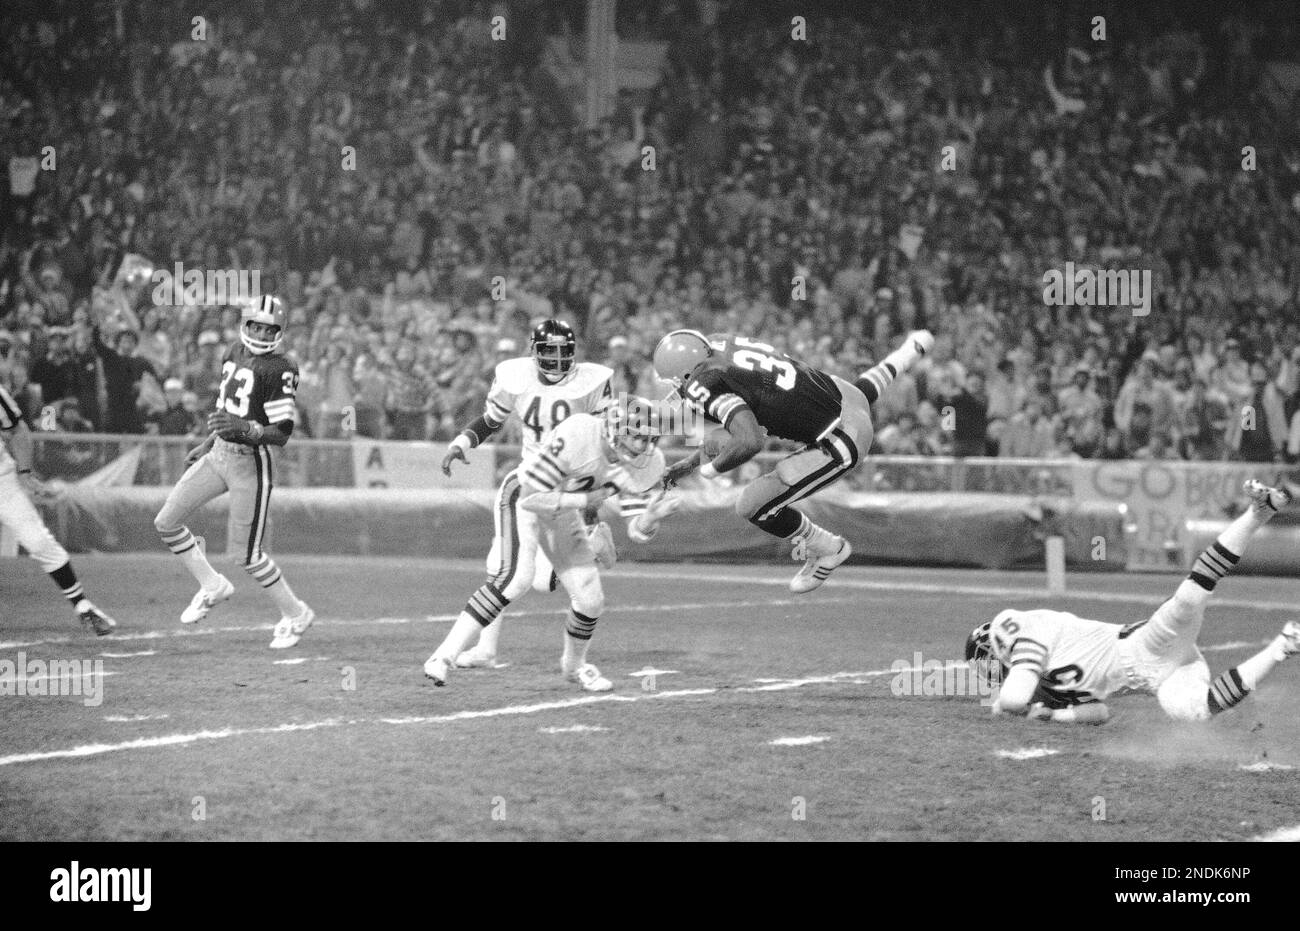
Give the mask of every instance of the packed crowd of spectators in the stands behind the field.
<path id="1" fill-rule="evenodd" d="M 558 316 L 651 397 L 677 326 L 849 378 L 928 326 L 883 452 L 1300 460 L 1286 3 L 1102 3 L 1105 39 L 1074 4 L 862 4 L 806 42 L 775 4 L 641 7 L 660 82 L 589 130 L 540 64 L 581 4 L 14 0 L 0 381 L 39 429 L 202 432 L 238 311 L 156 300 L 182 263 L 282 298 L 313 437 L 450 439 Z M 1049 303 L 1066 263 L 1149 304 Z"/>

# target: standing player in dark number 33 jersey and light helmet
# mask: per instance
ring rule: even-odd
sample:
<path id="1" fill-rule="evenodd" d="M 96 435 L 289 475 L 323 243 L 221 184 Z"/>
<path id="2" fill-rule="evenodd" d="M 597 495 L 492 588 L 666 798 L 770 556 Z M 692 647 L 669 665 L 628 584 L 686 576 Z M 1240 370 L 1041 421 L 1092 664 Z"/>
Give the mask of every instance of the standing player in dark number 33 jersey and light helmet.
<path id="1" fill-rule="evenodd" d="M 278 298 L 263 295 L 244 306 L 239 342 L 226 350 L 221 363 L 217 410 L 208 415 L 211 434 L 190 450 L 188 468 L 153 519 L 162 542 L 199 583 L 181 612 L 182 624 L 196 624 L 235 589 L 208 563 L 203 538 L 195 537 L 185 520 L 217 495 L 230 493 L 234 544 L 243 553 L 244 571 L 280 609 L 270 641 L 276 650 L 294 646 L 316 619 L 261 547 L 274 480 L 270 447 L 287 443 L 296 421 L 298 365 L 283 354 L 283 339 L 285 308 Z"/>

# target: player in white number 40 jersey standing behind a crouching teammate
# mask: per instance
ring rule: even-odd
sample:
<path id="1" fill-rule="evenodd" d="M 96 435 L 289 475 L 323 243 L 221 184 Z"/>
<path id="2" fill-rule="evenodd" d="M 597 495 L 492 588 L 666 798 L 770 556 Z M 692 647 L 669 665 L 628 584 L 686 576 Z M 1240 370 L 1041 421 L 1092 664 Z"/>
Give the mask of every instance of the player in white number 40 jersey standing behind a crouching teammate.
<path id="1" fill-rule="evenodd" d="M 611 400 L 610 376 L 604 365 L 577 361 L 577 338 L 562 320 L 543 320 L 533 329 L 532 355 L 507 359 L 497 365 L 488 403 L 480 417 L 465 426 L 447 450 L 442 471 L 451 475 L 451 463 L 465 459 L 465 452 L 488 441 L 514 413 L 523 423 L 524 456 L 542 449 L 542 439 L 573 413 L 603 413 Z M 500 612 L 524 594 L 529 585 L 538 592 L 552 592 L 556 579 L 545 551 L 538 553 L 536 538 L 519 533 L 519 471 L 510 472 L 497 489 L 493 506 L 495 534 L 488 554 L 488 581 L 469 598 L 467 611 L 474 612 L 484 627 L 478 644 L 456 657 L 456 666 L 494 667 L 500 642 Z M 620 502 L 624 516 L 645 510 L 647 497 L 637 495 Z M 597 557 L 612 564 L 614 544 L 608 527 L 595 524 L 592 531 Z"/>

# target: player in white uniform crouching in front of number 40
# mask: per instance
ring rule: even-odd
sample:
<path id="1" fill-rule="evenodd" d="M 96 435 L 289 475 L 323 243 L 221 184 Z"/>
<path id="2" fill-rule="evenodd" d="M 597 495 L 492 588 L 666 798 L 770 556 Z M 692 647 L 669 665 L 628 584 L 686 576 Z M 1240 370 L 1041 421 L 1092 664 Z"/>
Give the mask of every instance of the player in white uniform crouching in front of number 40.
<path id="1" fill-rule="evenodd" d="M 647 402 L 640 402 L 647 403 Z M 614 684 L 586 661 L 595 622 L 604 610 L 604 592 L 582 511 L 614 494 L 646 495 L 663 481 L 664 459 L 653 425 L 629 425 L 627 408 L 611 406 L 603 415 L 573 413 L 524 454 L 511 490 L 511 520 L 516 523 L 521 571 L 525 553 L 541 549 L 555 567 L 569 596 L 560 671 L 586 692 L 608 692 Z M 656 499 L 628 524 L 634 542 L 647 542 L 676 499 Z M 507 589 L 508 590 L 508 589 Z M 436 685 L 445 685 L 456 657 L 478 631 L 506 606 L 500 589 L 484 585 L 465 605 L 446 638 L 424 664 Z"/>

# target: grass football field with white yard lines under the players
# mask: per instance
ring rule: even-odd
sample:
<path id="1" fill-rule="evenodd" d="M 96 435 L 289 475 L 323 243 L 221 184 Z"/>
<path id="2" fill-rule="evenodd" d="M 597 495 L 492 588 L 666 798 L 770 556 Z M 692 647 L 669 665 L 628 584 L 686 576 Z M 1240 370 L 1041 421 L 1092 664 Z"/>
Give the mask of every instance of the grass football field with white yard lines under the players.
<path id="1" fill-rule="evenodd" d="M 182 628 L 192 583 L 173 558 L 75 558 L 118 620 L 103 638 L 35 564 L 0 560 L 0 663 L 103 662 L 99 703 L 31 681 L 0 697 L 0 839 L 1300 833 L 1300 662 L 1201 726 L 1148 696 L 1113 700 L 1105 727 L 1070 728 L 924 694 L 1002 607 L 1128 623 L 1174 575 L 1072 576 L 1049 597 L 1037 573 L 854 566 L 793 596 L 789 562 L 620 563 L 590 653 L 615 692 L 586 694 L 558 672 L 562 593 L 508 611 L 503 668 L 434 688 L 421 663 L 482 581 L 480 560 L 280 562 L 317 611 L 283 651 L 266 648 L 269 601 L 230 560 L 216 566 L 237 594 Z M 1228 579 L 1201 635 L 1212 670 L 1297 612 L 1297 580 Z"/>

